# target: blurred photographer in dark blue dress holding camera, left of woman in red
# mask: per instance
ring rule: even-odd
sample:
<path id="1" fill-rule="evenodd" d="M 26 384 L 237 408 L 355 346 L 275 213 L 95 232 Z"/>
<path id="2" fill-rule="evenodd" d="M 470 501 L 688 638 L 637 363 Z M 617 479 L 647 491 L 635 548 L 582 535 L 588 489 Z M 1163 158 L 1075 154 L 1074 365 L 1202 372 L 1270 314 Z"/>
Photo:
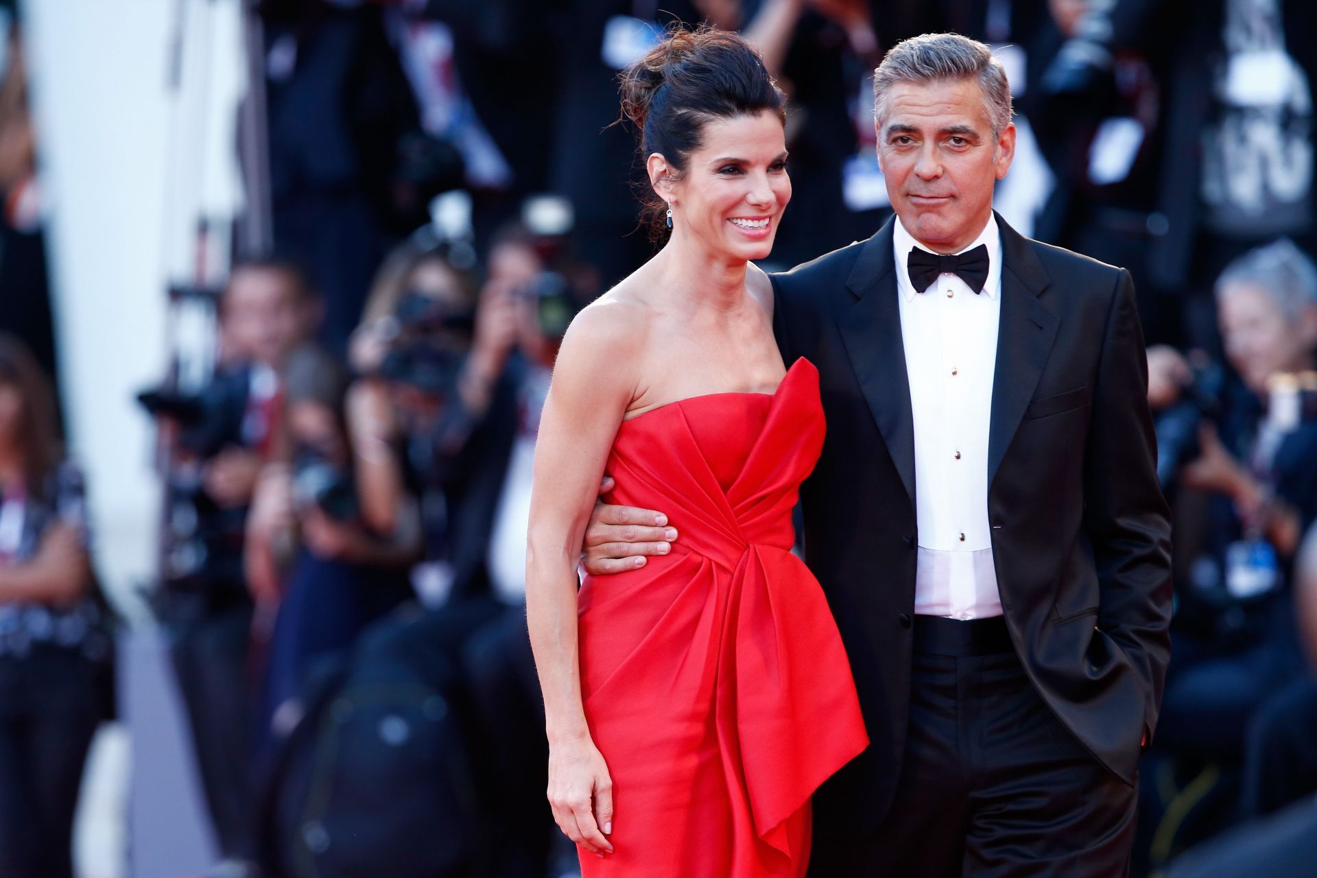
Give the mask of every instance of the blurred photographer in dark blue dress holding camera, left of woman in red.
<path id="1" fill-rule="evenodd" d="M 252 596 L 277 613 L 262 698 L 266 733 L 317 659 L 345 653 L 370 621 L 406 600 L 407 569 L 420 555 L 410 496 L 394 511 L 391 532 L 362 520 L 342 369 L 302 348 L 288 358 L 284 384 L 283 450 L 261 474 L 245 549 Z"/>

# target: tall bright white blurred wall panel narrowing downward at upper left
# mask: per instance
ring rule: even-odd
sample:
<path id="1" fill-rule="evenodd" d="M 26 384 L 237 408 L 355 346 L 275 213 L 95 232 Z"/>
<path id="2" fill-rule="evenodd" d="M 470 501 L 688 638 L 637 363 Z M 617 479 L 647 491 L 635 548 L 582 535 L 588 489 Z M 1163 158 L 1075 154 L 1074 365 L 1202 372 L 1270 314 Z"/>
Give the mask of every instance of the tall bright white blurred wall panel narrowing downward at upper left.
<path id="1" fill-rule="evenodd" d="M 173 0 L 24 0 L 55 344 L 97 567 L 155 570 L 153 432 L 133 392 L 165 362 L 166 72 Z"/>

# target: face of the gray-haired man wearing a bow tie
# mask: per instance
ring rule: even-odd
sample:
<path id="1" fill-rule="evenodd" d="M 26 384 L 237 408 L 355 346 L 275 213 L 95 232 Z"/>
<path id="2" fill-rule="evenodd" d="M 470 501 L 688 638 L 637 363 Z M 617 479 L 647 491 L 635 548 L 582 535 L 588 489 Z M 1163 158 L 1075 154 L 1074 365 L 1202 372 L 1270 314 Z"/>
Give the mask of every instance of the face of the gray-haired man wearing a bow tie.
<path id="1" fill-rule="evenodd" d="M 1015 126 L 993 137 L 975 79 L 897 83 L 880 112 L 878 165 L 901 224 L 938 253 L 963 250 L 992 215 L 993 184 L 1015 153 Z"/>

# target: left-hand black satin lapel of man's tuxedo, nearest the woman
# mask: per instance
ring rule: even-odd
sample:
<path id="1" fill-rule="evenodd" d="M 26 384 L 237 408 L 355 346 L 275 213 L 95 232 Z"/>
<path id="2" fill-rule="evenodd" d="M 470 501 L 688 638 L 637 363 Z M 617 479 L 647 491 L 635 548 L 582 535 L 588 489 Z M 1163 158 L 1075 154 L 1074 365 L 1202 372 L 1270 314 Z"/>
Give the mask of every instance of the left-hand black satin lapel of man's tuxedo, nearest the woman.
<path id="1" fill-rule="evenodd" d="M 881 236 L 878 236 L 881 237 Z M 901 311 L 896 274 L 892 271 L 892 237 L 886 238 L 886 270 L 880 276 L 851 287 L 860 299 L 838 319 L 860 390 L 873 420 L 882 433 L 888 454 L 901 473 L 910 502 L 914 502 L 914 416 L 910 412 L 910 380 L 901 341 Z"/>

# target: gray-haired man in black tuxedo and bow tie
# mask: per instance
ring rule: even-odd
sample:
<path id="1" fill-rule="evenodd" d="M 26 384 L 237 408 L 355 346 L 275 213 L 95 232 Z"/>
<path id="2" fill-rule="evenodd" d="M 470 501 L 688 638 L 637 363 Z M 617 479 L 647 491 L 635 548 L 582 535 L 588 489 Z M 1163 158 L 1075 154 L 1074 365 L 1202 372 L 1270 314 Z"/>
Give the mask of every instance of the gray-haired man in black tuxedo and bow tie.
<path id="1" fill-rule="evenodd" d="M 1119 875 L 1171 616 L 1134 287 L 992 212 L 1015 134 L 988 46 L 900 43 L 874 95 L 897 216 L 773 276 L 784 359 L 819 369 L 805 549 L 871 738 L 815 799 L 810 874 Z"/>

